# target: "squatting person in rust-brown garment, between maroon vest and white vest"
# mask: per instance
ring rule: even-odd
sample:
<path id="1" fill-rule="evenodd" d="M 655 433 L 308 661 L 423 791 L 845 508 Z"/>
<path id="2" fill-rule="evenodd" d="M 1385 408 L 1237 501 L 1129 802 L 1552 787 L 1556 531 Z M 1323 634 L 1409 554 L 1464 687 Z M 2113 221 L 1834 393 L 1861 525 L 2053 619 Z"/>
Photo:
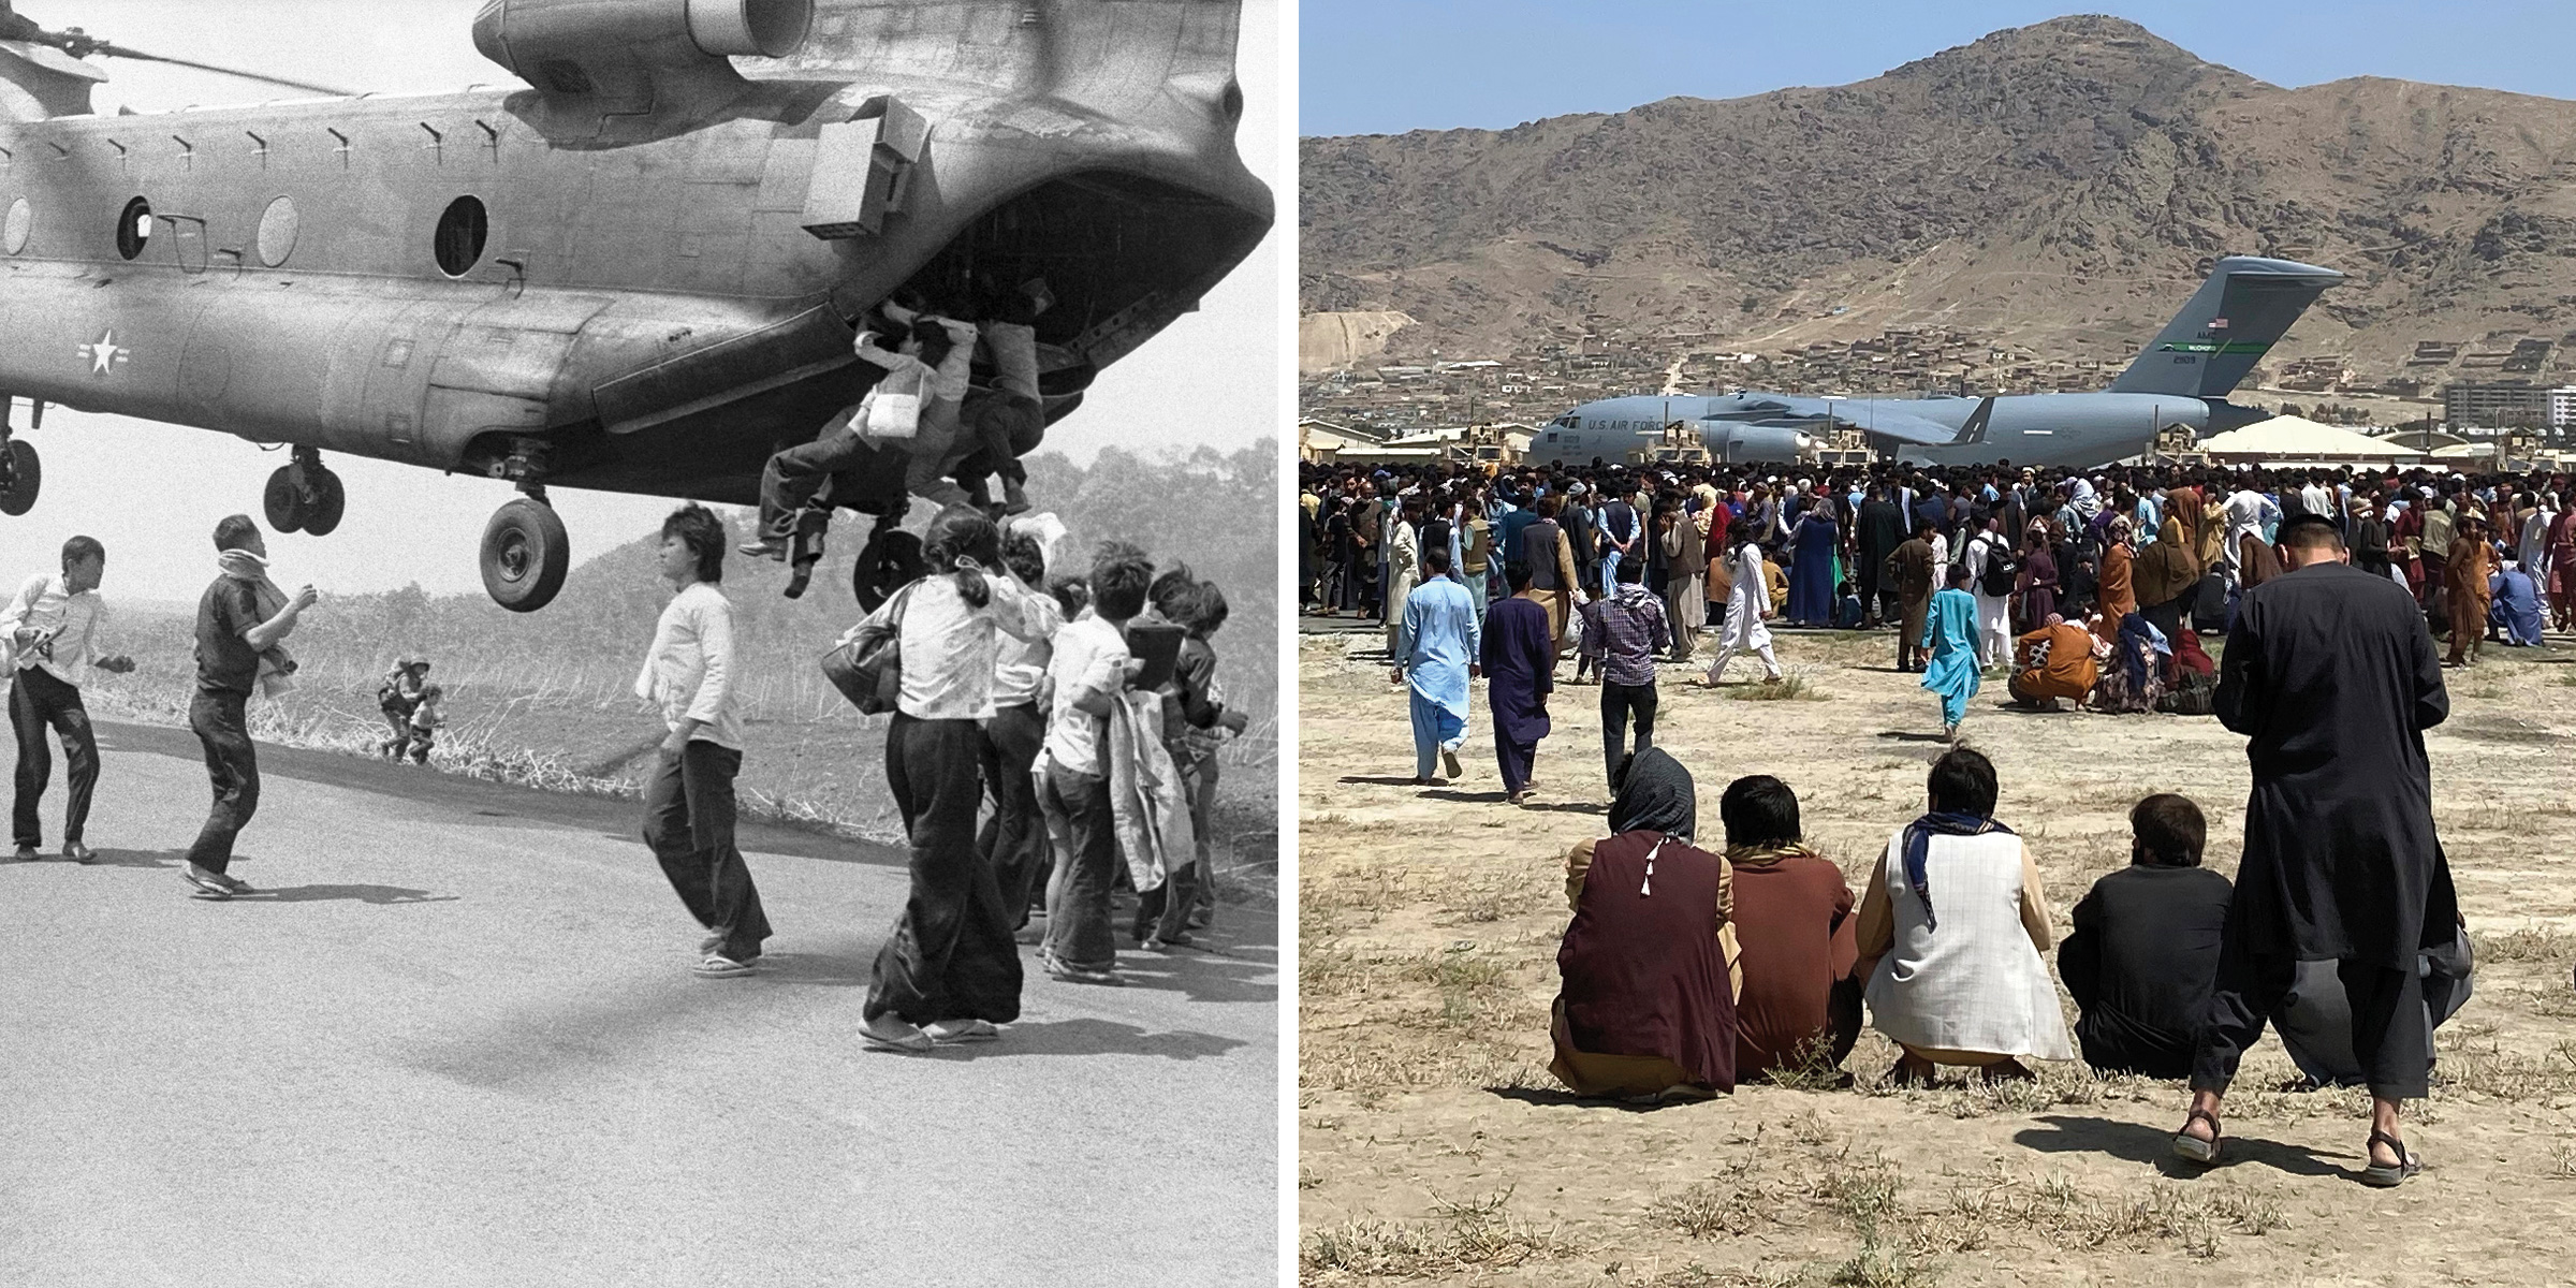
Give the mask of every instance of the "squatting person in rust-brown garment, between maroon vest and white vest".
<path id="1" fill-rule="evenodd" d="M 1736 1079 L 1832 1074 L 1860 1038 L 1860 922 L 1834 860 L 1798 840 L 1798 793 L 1770 775 L 1726 783 L 1736 933 Z M 1844 1077 L 1847 1079 L 1847 1077 Z"/>

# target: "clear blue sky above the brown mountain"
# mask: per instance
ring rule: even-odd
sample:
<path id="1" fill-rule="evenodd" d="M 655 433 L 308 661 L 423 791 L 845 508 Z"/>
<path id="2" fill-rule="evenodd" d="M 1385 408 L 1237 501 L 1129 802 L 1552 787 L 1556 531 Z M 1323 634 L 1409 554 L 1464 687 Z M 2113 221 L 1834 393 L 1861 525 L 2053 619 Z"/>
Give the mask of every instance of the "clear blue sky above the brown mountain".
<path id="1" fill-rule="evenodd" d="M 2066 13 L 2117 13 L 2275 85 L 2380 75 L 2576 98 L 2566 0 L 1303 0 L 1298 131 L 1504 129 L 1672 95 L 1847 85 Z"/>

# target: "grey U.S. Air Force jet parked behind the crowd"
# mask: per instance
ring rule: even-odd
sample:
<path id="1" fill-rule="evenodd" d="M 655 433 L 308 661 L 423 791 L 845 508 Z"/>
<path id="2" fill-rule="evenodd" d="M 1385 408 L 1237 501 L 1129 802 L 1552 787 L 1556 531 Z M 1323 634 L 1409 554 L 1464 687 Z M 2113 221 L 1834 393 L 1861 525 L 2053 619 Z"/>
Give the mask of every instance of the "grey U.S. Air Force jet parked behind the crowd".
<path id="1" fill-rule="evenodd" d="M 2329 286 L 2331 268 L 2228 255 L 2156 343 L 2099 394 L 2004 397 L 1814 397 L 1814 394 L 1638 394 L 1587 402 L 1530 443 L 1546 464 L 1623 461 L 1667 446 L 1664 428 L 1700 430 L 1718 461 L 1811 459 L 1837 428 L 1860 430 L 1870 448 L 1904 464 L 2087 469 L 2141 456 L 2159 433 L 2190 425 L 2195 438 L 2262 420 L 2228 392 Z"/>

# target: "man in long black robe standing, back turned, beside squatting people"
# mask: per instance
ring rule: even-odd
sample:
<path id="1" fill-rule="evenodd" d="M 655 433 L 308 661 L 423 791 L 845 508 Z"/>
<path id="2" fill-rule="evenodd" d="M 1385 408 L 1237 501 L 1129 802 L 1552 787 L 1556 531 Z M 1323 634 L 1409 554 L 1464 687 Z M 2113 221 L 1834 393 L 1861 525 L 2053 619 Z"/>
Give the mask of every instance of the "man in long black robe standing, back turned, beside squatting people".
<path id="1" fill-rule="evenodd" d="M 2215 714 L 2249 739 L 2254 793 L 2174 1154 L 2215 1162 L 2236 1061 L 2298 963 L 2334 958 L 2370 1079 L 2362 1180 L 2398 1185 L 2416 1172 L 2398 1103 L 2427 1082 L 2416 956 L 2458 925 L 2424 760 L 2424 729 L 2450 716 L 2450 696 L 2424 613 L 2349 564 L 2331 518 L 2282 523 L 2280 554 L 2290 572 L 2244 595 L 2218 672 Z"/>

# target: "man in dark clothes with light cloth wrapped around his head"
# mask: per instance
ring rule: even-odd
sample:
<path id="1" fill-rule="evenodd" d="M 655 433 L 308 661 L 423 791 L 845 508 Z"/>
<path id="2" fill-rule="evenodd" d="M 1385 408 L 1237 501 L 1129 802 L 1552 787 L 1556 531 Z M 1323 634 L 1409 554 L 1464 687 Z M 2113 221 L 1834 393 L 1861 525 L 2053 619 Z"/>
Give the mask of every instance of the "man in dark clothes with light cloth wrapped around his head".
<path id="1" fill-rule="evenodd" d="M 196 698 L 188 701 L 188 729 L 206 747 L 206 778 L 214 783 L 214 809 L 188 848 L 180 876 L 209 899 L 250 894 L 250 886 L 224 868 L 232 842 L 260 809 L 260 757 L 250 744 L 250 690 L 260 683 L 265 652 L 286 639 L 307 608 L 319 600 L 314 587 L 294 598 L 268 580 L 268 541 L 250 515 L 227 515 L 214 526 L 214 551 L 222 572 L 196 600 Z"/>

